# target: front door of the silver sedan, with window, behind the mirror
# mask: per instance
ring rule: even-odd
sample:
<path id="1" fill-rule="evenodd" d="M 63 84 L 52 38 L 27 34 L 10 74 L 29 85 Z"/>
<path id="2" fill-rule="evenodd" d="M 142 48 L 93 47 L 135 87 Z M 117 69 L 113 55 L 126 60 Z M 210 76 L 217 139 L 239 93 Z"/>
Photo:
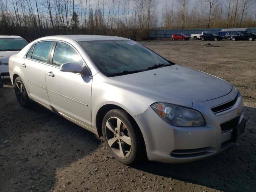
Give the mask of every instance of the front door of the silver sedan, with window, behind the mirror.
<path id="1" fill-rule="evenodd" d="M 64 42 L 57 42 L 52 66 L 46 68 L 46 87 L 50 106 L 60 114 L 91 127 L 92 78 L 60 71 L 60 66 L 69 62 L 78 62 L 81 66 L 85 66 L 81 56 L 73 47 Z"/>

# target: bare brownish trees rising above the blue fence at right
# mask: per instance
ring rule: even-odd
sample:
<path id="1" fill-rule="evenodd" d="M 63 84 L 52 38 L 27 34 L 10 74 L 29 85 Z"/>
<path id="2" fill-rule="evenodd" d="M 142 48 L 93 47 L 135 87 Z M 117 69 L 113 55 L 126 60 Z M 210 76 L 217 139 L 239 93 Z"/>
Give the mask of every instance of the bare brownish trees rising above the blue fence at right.
<path id="1" fill-rule="evenodd" d="M 163 28 L 256 27 L 256 0 L 173 0 L 162 9 Z"/>

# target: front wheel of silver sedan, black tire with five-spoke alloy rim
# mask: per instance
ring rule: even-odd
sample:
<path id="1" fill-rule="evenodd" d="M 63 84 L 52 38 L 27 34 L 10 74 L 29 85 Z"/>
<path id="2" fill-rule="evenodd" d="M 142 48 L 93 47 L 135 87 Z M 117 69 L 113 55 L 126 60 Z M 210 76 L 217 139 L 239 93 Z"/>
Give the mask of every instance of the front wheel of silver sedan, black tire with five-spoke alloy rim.
<path id="1" fill-rule="evenodd" d="M 108 150 L 119 162 L 134 164 L 144 158 L 142 134 L 126 111 L 113 109 L 107 112 L 102 122 L 102 135 Z"/>

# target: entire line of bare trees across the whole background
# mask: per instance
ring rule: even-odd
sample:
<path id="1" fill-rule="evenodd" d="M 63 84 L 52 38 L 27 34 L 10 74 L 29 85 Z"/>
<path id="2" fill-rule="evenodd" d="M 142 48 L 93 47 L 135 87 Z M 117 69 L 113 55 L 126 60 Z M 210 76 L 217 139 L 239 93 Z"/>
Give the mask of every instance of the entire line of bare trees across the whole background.
<path id="1" fill-rule="evenodd" d="M 256 0 L 0 0 L 0 35 L 148 38 L 152 28 L 255 27 Z"/>

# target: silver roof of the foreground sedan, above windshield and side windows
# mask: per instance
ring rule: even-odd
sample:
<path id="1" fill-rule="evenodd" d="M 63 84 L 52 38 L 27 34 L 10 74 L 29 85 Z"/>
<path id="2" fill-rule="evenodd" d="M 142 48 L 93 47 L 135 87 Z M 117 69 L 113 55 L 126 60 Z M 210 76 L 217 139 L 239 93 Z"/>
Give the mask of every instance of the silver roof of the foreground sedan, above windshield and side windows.
<path id="1" fill-rule="evenodd" d="M 75 40 L 76 42 L 95 41 L 95 40 L 128 40 L 122 37 L 103 36 L 103 35 L 55 35 L 55 36 L 42 37 L 38 40 L 66 40 L 66 39 L 72 39 L 72 40 Z"/>

